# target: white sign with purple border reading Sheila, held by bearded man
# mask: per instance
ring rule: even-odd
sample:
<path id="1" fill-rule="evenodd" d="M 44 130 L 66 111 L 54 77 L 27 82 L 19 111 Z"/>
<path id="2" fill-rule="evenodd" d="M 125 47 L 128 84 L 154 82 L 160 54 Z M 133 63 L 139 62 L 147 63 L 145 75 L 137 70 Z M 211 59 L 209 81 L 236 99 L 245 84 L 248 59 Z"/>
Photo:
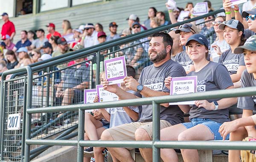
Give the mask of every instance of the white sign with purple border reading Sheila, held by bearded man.
<path id="1" fill-rule="evenodd" d="M 125 56 L 105 60 L 104 68 L 109 85 L 122 83 L 127 76 Z"/>

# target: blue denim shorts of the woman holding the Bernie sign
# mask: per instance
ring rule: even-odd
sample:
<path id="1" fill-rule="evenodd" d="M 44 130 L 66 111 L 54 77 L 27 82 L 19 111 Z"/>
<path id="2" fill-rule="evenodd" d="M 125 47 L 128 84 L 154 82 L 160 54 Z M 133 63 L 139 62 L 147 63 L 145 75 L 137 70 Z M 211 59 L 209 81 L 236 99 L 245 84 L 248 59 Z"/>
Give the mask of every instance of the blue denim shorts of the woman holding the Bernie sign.
<path id="1" fill-rule="evenodd" d="M 212 121 L 210 119 L 202 119 L 202 118 L 193 118 L 191 119 L 191 122 L 188 123 L 182 123 L 187 129 L 191 127 L 195 127 L 198 124 L 202 124 L 206 126 L 212 134 L 214 134 L 214 140 L 222 140 L 221 134 L 218 132 L 221 123 L 217 123 L 215 121 Z M 227 135 L 226 140 L 229 139 L 229 135 Z"/>

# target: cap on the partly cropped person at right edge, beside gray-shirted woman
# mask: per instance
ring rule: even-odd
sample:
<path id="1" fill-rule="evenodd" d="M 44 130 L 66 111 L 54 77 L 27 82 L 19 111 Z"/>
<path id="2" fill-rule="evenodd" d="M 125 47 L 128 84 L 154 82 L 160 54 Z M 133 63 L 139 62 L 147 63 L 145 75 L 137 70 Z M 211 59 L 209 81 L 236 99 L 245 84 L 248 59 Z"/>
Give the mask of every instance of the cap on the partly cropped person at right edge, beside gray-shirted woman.
<path id="1" fill-rule="evenodd" d="M 244 43 L 244 46 L 236 47 L 234 50 L 235 54 L 241 54 L 244 49 L 249 51 L 256 51 L 256 35 L 250 36 Z"/>

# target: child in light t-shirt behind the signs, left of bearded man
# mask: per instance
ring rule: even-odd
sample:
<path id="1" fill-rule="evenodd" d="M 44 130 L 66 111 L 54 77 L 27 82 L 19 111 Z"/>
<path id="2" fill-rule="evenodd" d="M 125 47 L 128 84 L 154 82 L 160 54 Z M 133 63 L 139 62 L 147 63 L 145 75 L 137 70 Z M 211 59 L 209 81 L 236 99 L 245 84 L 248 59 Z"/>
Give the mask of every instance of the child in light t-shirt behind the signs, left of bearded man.
<path id="1" fill-rule="evenodd" d="M 127 75 L 135 78 L 136 71 L 133 67 L 126 65 Z M 101 74 L 101 82 L 105 79 L 105 72 Z M 126 86 L 122 83 L 121 88 L 123 90 L 128 91 L 129 93 L 135 93 L 126 88 Z M 99 97 L 96 95 L 94 102 L 98 102 Z M 86 132 L 85 140 L 99 140 L 101 133 L 108 129 L 109 127 L 116 127 L 121 124 L 131 123 L 137 121 L 139 119 L 139 109 L 138 107 L 116 107 L 116 108 L 108 108 L 108 109 L 99 109 L 99 112 L 102 114 L 105 121 L 99 121 L 90 113 L 85 114 L 85 125 L 84 129 Z M 102 150 L 104 148 L 86 148 L 84 152 L 94 151 L 94 158 L 96 162 L 103 162 Z"/>

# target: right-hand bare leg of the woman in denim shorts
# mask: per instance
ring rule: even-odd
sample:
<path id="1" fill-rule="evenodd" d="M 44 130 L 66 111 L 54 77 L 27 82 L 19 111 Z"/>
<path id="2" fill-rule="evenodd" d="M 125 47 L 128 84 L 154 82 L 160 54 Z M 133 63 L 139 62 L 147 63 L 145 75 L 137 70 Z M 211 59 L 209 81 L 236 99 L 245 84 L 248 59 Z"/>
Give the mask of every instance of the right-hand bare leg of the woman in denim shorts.
<path id="1" fill-rule="evenodd" d="M 178 141 L 207 141 L 213 139 L 214 134 L 208 129 L 208 127 L 202 124 L 189 128 L 178 136 Z M 180 149 L 180 151 L 184 162 L 199 162 L 198 150 Z"/>

